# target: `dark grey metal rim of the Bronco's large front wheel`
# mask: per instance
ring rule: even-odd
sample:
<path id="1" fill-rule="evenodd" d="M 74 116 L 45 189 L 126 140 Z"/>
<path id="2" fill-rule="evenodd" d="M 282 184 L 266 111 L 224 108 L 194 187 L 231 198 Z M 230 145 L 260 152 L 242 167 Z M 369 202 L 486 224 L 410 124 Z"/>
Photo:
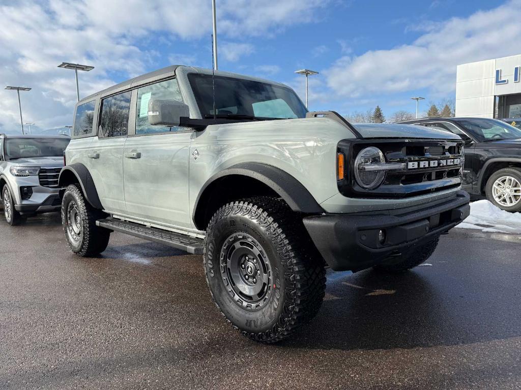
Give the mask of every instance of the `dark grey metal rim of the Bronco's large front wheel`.
<path id="1" fill-rule="evenodd" d="M 246 233 L 234 233 L 222 245 L 221 277 L 228 293 L 242 308 L 263 307 L 272 291 L 271 266 L 262 246 Z"/>

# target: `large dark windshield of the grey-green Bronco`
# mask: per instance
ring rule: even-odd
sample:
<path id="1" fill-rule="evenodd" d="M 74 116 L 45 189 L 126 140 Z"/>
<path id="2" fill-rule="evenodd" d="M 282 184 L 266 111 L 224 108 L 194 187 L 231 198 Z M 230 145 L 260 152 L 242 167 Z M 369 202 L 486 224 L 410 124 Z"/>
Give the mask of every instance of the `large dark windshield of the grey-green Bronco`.
<path id="1" fill-rule="evenodd" d="M 203 118 L 214 115 L 211 74 L 191 73 L 190 84 Z M 215 76 L 215 114 L 266 119 L 305 118 L 306 107 L 290 88 L 258 81 Z"/>

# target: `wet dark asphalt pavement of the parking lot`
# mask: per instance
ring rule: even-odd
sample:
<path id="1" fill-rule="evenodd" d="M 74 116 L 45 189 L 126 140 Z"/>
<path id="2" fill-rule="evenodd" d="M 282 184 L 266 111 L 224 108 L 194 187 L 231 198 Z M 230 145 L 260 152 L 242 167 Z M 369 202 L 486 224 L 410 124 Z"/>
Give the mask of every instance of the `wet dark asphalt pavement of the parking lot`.
<path id="1" fill-rule="evenodd" d="M 431 265 L 429 265 L 431 264 Z M 315 320 L 251 342 L 200 256 L 113 233 L 68 251 L 59 214 L 0 222 L 0 388 L 521 388 L 521 237 L 452 230 L 402 276 L 328 272 Z"/>

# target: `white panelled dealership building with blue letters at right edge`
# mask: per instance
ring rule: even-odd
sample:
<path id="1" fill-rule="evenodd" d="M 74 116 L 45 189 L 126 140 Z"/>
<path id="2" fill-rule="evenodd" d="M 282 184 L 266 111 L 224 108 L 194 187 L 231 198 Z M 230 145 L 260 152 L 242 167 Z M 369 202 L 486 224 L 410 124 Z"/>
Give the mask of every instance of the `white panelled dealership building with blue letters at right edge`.
<path id="1" fill-rule="evenodd" d="M 458 65 L 456 116 L 521 117 L 521 54 Z"/>

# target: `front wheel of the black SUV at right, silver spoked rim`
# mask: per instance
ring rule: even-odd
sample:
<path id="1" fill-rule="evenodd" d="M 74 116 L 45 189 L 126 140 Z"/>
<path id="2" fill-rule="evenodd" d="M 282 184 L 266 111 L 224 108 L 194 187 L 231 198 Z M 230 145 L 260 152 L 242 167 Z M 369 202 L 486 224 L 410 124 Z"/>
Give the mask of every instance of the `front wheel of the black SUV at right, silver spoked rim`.
<path id="1" fill-rule="evenodd" d="M 500 209 L 521 211 L 521 169 L 503 168 L 490 175 L 485 188 L 487 199 Z"/>

